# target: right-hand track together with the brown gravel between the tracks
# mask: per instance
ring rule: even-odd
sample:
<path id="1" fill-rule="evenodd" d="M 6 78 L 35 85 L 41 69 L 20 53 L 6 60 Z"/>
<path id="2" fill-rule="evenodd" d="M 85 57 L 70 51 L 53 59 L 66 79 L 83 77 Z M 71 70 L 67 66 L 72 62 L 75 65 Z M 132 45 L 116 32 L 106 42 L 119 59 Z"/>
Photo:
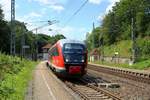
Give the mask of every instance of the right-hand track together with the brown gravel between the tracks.
<path id="1" fill-rule="evenodd" d="M 118 89 L 107 89 L 117 93 L 123 100 L 150 100 L 149 73 L 98 65 L 88 65 L 88 72 L 111 83 L 119 84 Z"/>

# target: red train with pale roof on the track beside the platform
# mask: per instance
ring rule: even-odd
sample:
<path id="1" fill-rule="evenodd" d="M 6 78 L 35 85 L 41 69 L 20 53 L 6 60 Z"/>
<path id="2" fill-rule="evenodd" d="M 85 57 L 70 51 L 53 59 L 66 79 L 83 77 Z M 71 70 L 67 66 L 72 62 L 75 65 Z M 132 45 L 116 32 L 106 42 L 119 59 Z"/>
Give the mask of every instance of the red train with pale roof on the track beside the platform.
<path id="1" fill-rule="evenodd" d="M 60 77 L 81 77 L 87 72 L 87 48 L 84 42 L 59 40 L 49 49 L 47 65 Z"/>

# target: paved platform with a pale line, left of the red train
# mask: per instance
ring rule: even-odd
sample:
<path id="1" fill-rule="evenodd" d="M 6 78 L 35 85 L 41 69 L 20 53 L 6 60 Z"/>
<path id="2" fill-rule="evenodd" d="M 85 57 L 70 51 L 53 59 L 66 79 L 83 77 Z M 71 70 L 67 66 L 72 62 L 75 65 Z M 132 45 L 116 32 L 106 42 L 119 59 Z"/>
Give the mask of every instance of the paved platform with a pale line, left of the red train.
<path id="1" fill-rule="evenodd" d="M 46 66 L 41 62 L 33 72 L 25 100 L 79 100 Z"/>

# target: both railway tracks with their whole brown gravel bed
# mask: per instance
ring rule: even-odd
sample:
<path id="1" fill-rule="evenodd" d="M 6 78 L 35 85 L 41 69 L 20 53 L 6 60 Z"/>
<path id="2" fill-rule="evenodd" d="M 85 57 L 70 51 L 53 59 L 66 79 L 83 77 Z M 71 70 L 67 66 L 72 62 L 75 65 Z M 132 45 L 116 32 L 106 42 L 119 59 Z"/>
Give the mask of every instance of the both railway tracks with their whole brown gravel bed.
<path id="1" fill-rule="evenodd" d="M 125 73 L 120 75 L 121 73 L 117 71 L 117 69 L 105 69 L 104 67 L 93 66 L 88 65 L 87 75 L 80 80 L 62 80 L 65 85 L 72 89 L 75 94 L 78 94 L 81 99 L 150 100 L 149 83 L 146 82 L 145 84 L 142 81 L 143 79 L 140 79 L 140 81 L 133 79 L 129 76 L 131 73 L 128 75 L 129 72 L 126 73 L 127 75 L 125 75 Z M 149 74 L 144 76 L 149 79 Z M 134 77 L 134 75 L 132 77 Z M 116 84 L 119 85 L 119 88 Z"/>

